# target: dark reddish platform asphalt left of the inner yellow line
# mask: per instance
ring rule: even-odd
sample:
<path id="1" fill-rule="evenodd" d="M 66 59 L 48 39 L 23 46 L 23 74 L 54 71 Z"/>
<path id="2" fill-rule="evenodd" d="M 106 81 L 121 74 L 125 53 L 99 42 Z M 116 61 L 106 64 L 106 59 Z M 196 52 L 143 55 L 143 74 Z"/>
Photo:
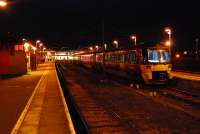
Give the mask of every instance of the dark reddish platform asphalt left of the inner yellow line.
<path id="1" fill-rule="evenodd" d="M 0 79 L 0 134 L 9 134 L 40 80 L 46 65 L 22 76 Z"/>

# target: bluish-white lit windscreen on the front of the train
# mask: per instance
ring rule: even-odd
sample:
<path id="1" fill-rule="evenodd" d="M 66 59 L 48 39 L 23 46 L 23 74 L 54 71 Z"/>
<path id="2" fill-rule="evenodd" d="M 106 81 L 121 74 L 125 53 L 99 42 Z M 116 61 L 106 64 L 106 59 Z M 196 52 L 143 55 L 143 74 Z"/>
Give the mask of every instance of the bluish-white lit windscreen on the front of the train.
<path id="1" fill-rule="evenodd" d="M 170 54 L 168 50 L 148 50 L 149 63 L 168 63 L 170 62 Z"/>

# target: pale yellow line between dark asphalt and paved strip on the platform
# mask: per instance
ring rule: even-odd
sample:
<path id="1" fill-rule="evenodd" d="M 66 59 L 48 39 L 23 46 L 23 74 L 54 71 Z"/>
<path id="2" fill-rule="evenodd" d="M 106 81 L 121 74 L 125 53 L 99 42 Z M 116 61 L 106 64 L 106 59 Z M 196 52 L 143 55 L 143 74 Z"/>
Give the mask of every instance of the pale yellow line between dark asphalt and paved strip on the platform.
<path id="1" fill-rule="evenodd" d="M 37 85 L 36 85 L 36 87 L 35 87 L 35 89 L 34 89 L 32 95 L 31 95 L 30 99 L 28 100 L 28 103 L 26 104 L 26 106 L 25 106 L 23 112 L 21 113 L 21 115 L 20 115 L 20 117 L 18 118 L 18 120 L 17 120 L 15 126 L 13 127 L 13 129 L 12 129 L 12 131 L 11 131 L 11 134 L 17 134 L 17 132 L 18 132 L 18 130 L 19 130 L 19 128 L 20 128 L 20 126 L 21 126 L 21 124 L 22 124 L 22 122 L 23 122 L 23 120 L 24 120 L 24 118 L 25 118 L 25 116 L 26 116 L 26 114 L 27 114 L 27 112 L 28 112 L 28 109 L 29 109 L 29 107 L 30 107 L 30 105 L 31 105 L 31 102 L 32 102 L 32 100 L 33 100 L 33 98 L 34 98 L 34 96 L 35 96 L 35 93 L 36 93 L 37 89 L 39 88 L 41 82 L 44 80 L 44 78 L 45 78 L 45 76 L 47 75 L 47 73 L 48 73 L 48 71 L 45 71 L 45 72 L 42 74 L 42 77 L 40 78 L 39 82 L 37 83 Z"/>

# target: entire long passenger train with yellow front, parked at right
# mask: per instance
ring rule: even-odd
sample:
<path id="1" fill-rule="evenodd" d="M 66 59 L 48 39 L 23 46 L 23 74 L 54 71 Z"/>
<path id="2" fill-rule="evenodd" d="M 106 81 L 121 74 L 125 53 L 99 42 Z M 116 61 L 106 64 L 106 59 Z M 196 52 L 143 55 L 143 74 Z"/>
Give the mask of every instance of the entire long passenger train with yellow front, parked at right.
<path id="1" fill-rule="evenodd" d="M 78 54 L 80 62 L 95 69 L 145 84 L 166 84 L 171 75 L 171 53 L 163 43 L 143 43 L 131 48 L 88 50 Z"/>

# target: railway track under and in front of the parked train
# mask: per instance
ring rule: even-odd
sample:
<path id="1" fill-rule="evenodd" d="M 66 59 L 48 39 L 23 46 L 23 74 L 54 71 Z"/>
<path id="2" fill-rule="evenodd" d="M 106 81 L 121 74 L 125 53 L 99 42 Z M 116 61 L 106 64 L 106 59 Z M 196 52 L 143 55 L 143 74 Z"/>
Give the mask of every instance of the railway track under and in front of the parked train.
<path id="1" fill-rule="evenodd" d="M 177 88 L 176 85 L 153 85 L 153 86 L 147 86 L 142 85 L 138 83 L 134 83 L 130 79 L 122 78 L 116 75 L 111 75 L 110 73 L 107 74 L 108 79 L 112 79 L 116 82 L 119 82 L 120 84 L 124 85 L 131 85 L 132 87 L 136 89 L 140 89 L 140 93 L 142 93 L 145 96 L 164 96 L 169 99 L 173 99 L 175 101 L 178 101 L 179 104 L 183 104 L 184 106 L 190 106 L 191 108 L 194 108 L 194 110 L 197 111 L 197 113 L 200 113 L 200 92 L 195 91 L 196 89 L 180 89 Z M 194 111 L 192 110 L 192 111 Z M 198 116 L 200 118 L 200 116 Z"/>

